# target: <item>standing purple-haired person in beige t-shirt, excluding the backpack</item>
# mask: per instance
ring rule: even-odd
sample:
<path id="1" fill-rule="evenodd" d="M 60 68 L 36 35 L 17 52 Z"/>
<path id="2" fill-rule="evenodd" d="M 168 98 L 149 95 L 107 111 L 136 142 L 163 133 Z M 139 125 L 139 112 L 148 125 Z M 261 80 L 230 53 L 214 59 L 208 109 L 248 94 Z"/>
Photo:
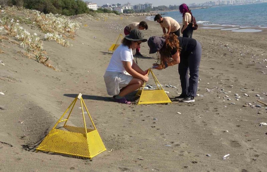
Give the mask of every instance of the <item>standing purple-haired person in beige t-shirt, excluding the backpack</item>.
<path id="1" fill-rule="evenodd" d="M 189 26 L 192 19 L 192 12 L 186 4 L 181 4 L 179 6 L 180 13 L 183 15 L 183 27 L 181 33 L 183 37 L 192 38 L 193 29 Z"/>

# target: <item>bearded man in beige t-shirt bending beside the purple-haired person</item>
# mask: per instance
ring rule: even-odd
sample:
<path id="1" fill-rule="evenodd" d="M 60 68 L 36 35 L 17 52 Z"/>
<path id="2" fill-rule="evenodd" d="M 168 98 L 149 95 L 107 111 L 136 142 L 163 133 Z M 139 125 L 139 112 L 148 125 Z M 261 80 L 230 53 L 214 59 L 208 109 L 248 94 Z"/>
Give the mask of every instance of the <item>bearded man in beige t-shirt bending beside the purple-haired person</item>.
<path id="1" fill-rule="evenodd" d="M 176 34 L 178 37 L 180 36 L 180 25 L 173 18 L 162 17 L 160 14 L 157 14 L 154 18 L 154 21 L 160 23 L 164 34 Z M 168 30 L 167 32 L 166 29 Z"/>

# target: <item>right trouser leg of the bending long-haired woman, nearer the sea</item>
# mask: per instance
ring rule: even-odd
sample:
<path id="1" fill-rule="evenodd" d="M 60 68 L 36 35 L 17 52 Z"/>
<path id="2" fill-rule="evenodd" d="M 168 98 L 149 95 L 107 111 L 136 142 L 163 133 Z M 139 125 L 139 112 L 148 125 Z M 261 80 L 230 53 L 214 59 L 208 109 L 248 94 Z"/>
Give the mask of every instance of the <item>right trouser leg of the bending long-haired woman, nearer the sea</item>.
<path id="1" fill-rule="evenodd" d="M 188 56 L 188 65 L 190 72 L 188 95 L 192 97 L 196 97 L 196 92 L 198 89 L 198 71 L 201 60 L 201 51 L 201 45 L 197 41 L 195 50 L 193 50 Z"/>

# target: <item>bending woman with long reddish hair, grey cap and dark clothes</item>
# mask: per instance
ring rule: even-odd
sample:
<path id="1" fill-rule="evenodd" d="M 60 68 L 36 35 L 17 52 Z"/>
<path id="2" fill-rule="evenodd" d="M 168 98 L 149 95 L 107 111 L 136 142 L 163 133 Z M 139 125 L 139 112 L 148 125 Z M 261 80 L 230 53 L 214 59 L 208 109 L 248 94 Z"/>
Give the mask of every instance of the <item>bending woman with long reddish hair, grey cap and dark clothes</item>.
<path id="1" fill-rule="evenodd" d="M 150 37 L 147 41 L 149 53 L 160 54 L 160 64 L 153 68 L 162 70 L 168 66 L 179 64 L 178 71 L 181 80 L 182 102 L 194 102 L 198 88 L 198 71 L 201 59 L 201 45 L 192 38 L 177 37 L 174 34 L 164 34 L 163 37 Z M 188 68 L 190 78 L 188 77 Z"/>

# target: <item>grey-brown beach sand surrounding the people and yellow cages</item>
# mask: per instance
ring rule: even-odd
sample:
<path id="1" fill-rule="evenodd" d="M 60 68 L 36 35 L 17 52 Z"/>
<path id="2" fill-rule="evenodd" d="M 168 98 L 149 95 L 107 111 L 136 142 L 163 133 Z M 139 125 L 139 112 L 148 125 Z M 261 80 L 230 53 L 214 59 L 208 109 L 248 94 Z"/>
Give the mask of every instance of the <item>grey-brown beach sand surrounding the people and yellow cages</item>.
<path id="1" fill-rule="evenodd" d="M 203 97 L 191 103 L 173 99 L 181 93 L 176 65 L 154 70 L 161 84 L 178 85 L 164 87 L 172 105 L 125 105 L 107 95 L 103 79 L 111 57 L 107 52 L 124 26 L 145 17 L 117 16 L 106 21 L 79 17 L 74 20 L 88 27 L 81 26 L 75 40 L 69 40 L 72 47 L 44 41 L 52 65 L 60 72 L 17 53 L 18 45 L 0 43 L 5 52 L 0 54 L 5 64 L 0 64 L 0 91 L 6 91 L 0 95 L 0 106 L 5 108 L 0 109 L 0 171 L 267 171 L 267 126 L 259 126 L 267 122 L 267 110 L 242 107 L 262 105 L 256 94 L 267 102 L 266 31 L 198 29 L 193 38 L 203 48 L 198 85 Z M 158 23 L 147 23 L 145 37 L 162 35 Z M 23 26 L 31 34 L 44 35 L 37 27 Z M 147 43 L 142 43 L 145 57 L 138 59 L 142 69 L 157 61 L 148 52 Z M 154 84 L 151 76 L 148 83 Z M 36 146 L 79 92 L 107 151 L 112 151 L 92 160 L 36 153 Z M 236 100 L 234 94 L 241 98 Z M 70 124 L 82 127 L 78 107 Z M 222 160 L 226 154 L 229 158 Z"/>

